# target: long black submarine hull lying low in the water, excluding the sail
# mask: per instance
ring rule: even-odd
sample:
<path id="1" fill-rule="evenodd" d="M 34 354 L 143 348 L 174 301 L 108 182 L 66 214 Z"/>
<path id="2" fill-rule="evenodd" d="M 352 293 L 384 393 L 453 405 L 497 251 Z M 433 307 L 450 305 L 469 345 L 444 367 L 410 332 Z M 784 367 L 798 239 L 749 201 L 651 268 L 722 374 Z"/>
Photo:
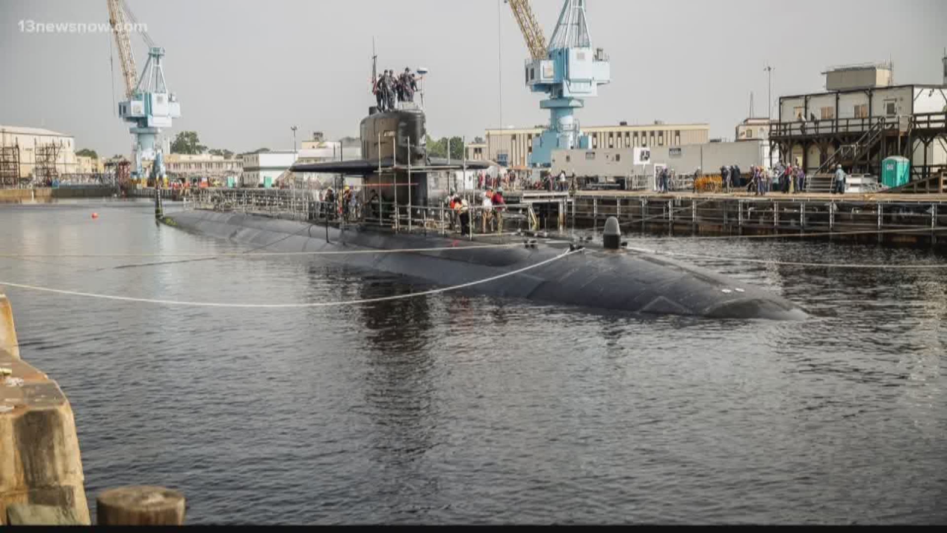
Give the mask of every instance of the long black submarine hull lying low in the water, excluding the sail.
<path id="1" fill-rule="evenodd" d="M 184 211 L 174 226 L 266 251 L 378 250 L 327 254 L 331 261 L 399 274 L 432 285 L 461 285 L 535 265 L 566 248 L 472 248 L 482 243 L 377 230 L 338 230 L 257 215 Z M 444 248 L 385 253 L 386 249 Z M 803 320 L 798 305 L 753 285 L 663 256 L 587 248 L 489 283 L 478 293 L 618 311 L 721 319 Z"/>

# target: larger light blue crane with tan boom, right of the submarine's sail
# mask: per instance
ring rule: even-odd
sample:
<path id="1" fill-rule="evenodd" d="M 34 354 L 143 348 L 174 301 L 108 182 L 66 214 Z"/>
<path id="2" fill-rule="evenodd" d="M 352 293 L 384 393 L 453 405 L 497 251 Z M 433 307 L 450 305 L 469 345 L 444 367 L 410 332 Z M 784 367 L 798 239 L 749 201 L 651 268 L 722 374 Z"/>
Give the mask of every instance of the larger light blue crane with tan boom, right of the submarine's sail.
<path id="1" fill-rule="evenodd" d="M 611 67 L 604 50 L 592 47 L 585 0 L 563 2 L 556 29 L 545 46 L 529 0 L 507 1 L 529 49 L 526 84 L 533 92 L 548 95 L 540 107 L 549 110 L 549 125 L 533 139 L 529 165 L 548 167 L 553 150 L 589 147 L 575 110 L 584 105 L 583 99 L 599 94 L 599 85 L 611 81 Z"/>

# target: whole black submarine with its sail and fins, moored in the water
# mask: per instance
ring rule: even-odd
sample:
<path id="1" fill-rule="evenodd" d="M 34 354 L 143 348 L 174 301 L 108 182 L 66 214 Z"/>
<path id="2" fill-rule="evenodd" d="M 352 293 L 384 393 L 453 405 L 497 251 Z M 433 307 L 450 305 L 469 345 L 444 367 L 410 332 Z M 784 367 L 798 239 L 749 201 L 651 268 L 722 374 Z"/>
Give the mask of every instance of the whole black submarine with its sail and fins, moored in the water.
<path id="1" fill-rule="evenodd" d="M 424 112 L 412 102 L 399 102 L 388 111 L 369 108 L 360 134 L 363 159 L 296 164 L 290 170 L 360 175 L 364 197 L 380 199 L 375 204 L 424 210 L 443 206 L 458 167 L 487 168 L 484 161 L 428 156 Z M 372 204 L 366 201 L 363 211 L 370 213 Z M 463 285 L 479 294 L 618 312 L 714 319 L 809 316 L 799 305 L 760 287 L 666 256 L 626 249 L 619 243 L 615 219 L 606 224 L 600 247 L 536 239 L 504 243 L 498 237 L 472 239 L 377 224 L 313 224 L 226 210 L 179 211 L 165 220 L 183 230 L 267 251 L 355 252 L 321 257 L 397 274 L 416 285 Z"/>

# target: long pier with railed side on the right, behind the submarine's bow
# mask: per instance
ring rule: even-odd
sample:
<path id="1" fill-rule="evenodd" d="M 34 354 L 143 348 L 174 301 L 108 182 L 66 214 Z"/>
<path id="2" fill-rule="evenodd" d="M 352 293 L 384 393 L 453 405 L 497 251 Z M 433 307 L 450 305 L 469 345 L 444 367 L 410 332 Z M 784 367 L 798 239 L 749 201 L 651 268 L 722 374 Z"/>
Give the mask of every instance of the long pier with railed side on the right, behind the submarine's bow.
<path id="1" fill-rule="evenodd" d="M 699 234 L 822 234 L 884 243 L 943 244 L 947 194 L 575 193 L 575 228 L 616 216 L 625 230 Z"/>

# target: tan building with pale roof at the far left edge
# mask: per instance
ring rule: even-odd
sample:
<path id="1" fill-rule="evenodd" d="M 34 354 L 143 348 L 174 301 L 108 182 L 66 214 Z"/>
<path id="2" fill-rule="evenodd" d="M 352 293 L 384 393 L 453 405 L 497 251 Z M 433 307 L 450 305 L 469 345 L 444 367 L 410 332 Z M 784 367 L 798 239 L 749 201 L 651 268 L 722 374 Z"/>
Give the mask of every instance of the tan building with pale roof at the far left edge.
<path id="1" fill-rule="evenodd" d="M 0 125 L 0 183 L 76 171 L 76 142 L 44 128 Z"/>

